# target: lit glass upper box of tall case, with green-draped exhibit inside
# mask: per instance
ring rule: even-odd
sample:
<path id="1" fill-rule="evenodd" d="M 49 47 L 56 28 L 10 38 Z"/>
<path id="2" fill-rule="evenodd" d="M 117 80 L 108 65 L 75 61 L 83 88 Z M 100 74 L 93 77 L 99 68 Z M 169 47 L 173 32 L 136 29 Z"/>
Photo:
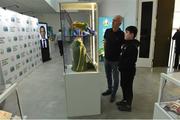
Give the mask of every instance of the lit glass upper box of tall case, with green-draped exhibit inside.
<path id="1" fill-rule="evenodd" d="M 96 3 L 61 3 L 65 73 L 97 71 Z"/>

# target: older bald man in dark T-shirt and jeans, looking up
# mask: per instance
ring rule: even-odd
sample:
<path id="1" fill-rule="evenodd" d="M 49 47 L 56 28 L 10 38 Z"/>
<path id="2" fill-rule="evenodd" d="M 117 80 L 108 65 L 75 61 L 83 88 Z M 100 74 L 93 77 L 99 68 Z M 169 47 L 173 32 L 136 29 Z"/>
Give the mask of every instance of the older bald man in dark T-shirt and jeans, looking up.
<path id="1" fill-rule="evenodd" d="M 107 29 L 104 34 L 105 72 L 108 89 L 102 95 L 111 95 L 110 102 L 115 101 L 116 92 L 119 87 L 118 60 L 120 48 L 124 40 L 124 32 L 119 28 L 121 22 L 122 17 L 120 15 L 115 16 L 112 28 Z"/>

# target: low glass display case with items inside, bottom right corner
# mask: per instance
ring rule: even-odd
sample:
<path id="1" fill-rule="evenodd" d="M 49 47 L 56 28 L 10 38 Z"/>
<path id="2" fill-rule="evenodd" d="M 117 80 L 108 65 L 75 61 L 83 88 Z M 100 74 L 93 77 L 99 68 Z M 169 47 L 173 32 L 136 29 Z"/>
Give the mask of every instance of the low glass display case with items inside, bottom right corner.
<path id="1" fill-rule="evenodd" d="M 161 74 L 154 119 L 180 119 L 180 72 Z"/>

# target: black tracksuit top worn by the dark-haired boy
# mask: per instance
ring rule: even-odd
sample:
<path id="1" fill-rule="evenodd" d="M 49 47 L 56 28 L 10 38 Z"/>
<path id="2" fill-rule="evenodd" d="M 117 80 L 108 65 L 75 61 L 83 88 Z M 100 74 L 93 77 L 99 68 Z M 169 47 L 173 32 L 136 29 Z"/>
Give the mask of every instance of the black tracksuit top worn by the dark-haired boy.
<path id="1" fill-rule="evenodd" d="M 136 67 L 138 55 L 139 41 L 124 40 L 121 46 L 121 53 L 119 57 L 119 70 L 132 70 Z"/>

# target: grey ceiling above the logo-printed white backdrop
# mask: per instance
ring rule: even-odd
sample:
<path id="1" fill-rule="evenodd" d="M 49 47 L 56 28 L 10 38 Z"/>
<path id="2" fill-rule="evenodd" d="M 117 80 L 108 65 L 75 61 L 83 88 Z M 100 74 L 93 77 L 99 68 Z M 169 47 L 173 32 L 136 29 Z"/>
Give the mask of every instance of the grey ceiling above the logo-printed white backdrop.
<path id="1" fill-rule="evenodd" d="M 6 6 L 7 9 L 31 16 L 39 13 L 55 13 L 45 0 L 0 0 L 0 7 Z"/>

